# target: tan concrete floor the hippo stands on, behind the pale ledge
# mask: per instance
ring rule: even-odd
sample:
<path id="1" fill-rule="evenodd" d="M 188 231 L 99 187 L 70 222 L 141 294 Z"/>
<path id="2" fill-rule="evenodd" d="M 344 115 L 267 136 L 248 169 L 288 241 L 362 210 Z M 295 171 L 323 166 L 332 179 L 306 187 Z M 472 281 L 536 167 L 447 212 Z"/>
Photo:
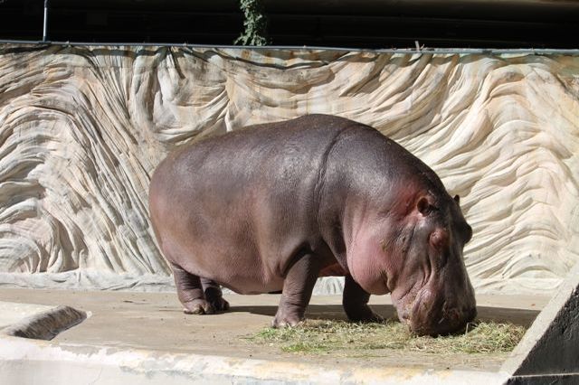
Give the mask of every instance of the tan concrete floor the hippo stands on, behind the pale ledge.
<path id="1" fill-rule="evenodd" d="M 257 346 L 243 337 L 268 326 L 279 295 L 226 296 L 231 311 L 220 315 L 185 315 L 175 293 L 86 292 L 38 289 L 0 289 L 0 300 L 19 304 L 70 305 L 90 312 L 81 324 L 60 333 L 52 343 L 90 345 L 119 350 L 192 353 L 239 359 L 313 363 L 324 367 L 400 367 L 420 370 L 498 371 L 502 354 L 400 353 L 376 351 L 372 356 L 346 357 L 343 352 L 304 356 L 280 352 L 276 346 Z M 478 296 L 479 319 L 530 325 L 546 305 L 546 296 Z M 314 296 L 308 318 L 344 319 L 340 296 Z M 393 317 L 390 296 L 373 296 L 371 305 Z M 23 305 L 22 309 L 30 307 Z M 13 306 L 14 307 L 14 306 Z M 0 315 L 0 327 L 11 312 Z M 23 313 L 24 315 L 24 313 Z M 3 321 L 4 316 L 4 321 Z M 17 318 L 12 312 L 12 319 Z"/>

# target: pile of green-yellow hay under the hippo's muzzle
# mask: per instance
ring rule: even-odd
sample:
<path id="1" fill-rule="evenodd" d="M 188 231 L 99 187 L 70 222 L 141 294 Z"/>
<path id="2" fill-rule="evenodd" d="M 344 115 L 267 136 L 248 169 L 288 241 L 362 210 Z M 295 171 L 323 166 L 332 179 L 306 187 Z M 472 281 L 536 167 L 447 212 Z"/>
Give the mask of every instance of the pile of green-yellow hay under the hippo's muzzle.
<path id="1" fill-rule="evenodd" d="M 470 323 L 464 333 L 417 336 L 404 324 L 353 324 L 308 320 L 293 328 L 266 328 L 248 337 L 254 343 L 280 346 L 283 352 L 326 353 L 396 349 L 407 352 L 510 352 L 525 333 L 523 326 L 494 322 Z"/>

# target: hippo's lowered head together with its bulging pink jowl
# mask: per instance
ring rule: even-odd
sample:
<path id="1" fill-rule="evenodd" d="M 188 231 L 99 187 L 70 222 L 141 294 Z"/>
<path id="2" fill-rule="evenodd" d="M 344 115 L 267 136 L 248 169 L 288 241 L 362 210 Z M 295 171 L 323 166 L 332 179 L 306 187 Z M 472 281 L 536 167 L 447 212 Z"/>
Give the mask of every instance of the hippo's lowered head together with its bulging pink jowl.
<path id="1" fill-rule="evenodd" d="M 369 236 L 360 250 L 365 262 L 353 258 L 351 274 L 367 292 L 390 292 L 398 317 L 414 333 L 458 331 L 476 316 L 462 257 L 472 230 L 458 196 L 435 199 L 426 193 L 411 201 L 403 204 L 403 213 L 389 213 L 365 231 Z"/>

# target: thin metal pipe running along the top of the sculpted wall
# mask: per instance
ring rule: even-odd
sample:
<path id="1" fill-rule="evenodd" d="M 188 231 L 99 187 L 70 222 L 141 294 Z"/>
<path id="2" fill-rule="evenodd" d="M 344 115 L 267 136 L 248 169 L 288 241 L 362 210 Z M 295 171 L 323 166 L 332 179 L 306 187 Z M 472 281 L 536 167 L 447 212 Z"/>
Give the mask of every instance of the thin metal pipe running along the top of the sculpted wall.
<path id="1" fill-rule="evenodd" d="M 550 48 L 429 48 L 420 50 L 416 48 L 388 48 L 388 49 L 365 49 L 365 48 L 345 48 L 345 47 L 324 47 L 308 45 L 223 45 L 223 44 L 190 44 L 176 42 L 48 42 L 34 40 L 3 40 L 0 44 L 33 44 L 33 45 L 63 46 L 100 46 L 100 47 L 185 47 L 203 48 L 218 50 L 255 50 L 255 51 L 336 51 L 336 52 L 374 52 L 374 53 L 437 53 L 437 54 L 536 54 L 536 55 L 579 55 L 579 49 L 550 49 Z"/>

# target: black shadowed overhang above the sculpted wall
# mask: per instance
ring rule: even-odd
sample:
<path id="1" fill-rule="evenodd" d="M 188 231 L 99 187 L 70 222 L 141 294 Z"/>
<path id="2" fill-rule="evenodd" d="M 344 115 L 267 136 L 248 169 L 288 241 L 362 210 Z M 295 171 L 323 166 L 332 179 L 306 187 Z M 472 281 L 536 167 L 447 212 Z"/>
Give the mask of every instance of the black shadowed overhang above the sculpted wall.
<path id="1" fill-rule="evenodd" d="M 264 0 L 275 45 L 578 48 L 579 1 Z M 43 0 L 0 0 L 0 39 L 40 40 Z M 232 44 L 234 0 L 51 0 L 48 37 L 71 42 Z"/>

